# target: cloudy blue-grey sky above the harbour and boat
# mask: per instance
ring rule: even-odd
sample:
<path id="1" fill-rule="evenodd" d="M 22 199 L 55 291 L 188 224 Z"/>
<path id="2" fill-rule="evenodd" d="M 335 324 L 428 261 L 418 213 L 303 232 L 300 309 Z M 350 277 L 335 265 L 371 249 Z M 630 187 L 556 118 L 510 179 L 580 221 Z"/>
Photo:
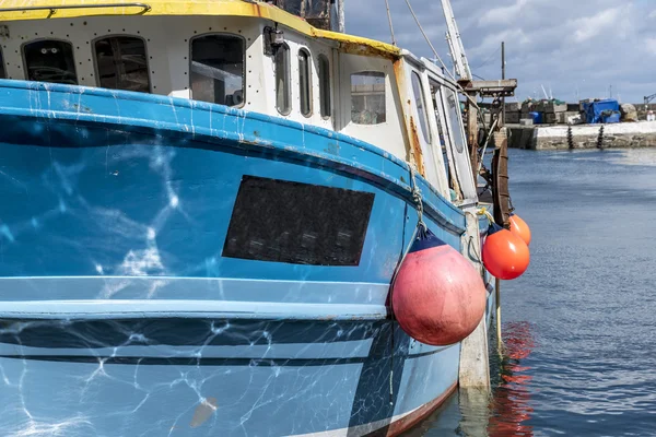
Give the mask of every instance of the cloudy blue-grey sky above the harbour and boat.
<path id="1" fill-rule="evenodd" d="M 388 0 L 397 45 L 433 58 L 406 0 Z M 450 68 L 438 0 L 409 0 Z M 347 32 L 391 42 L 385 0 L 344 0 Z M 642 103 L 656 93 L 656 0 L 452 0 L 472 73 L 518 80 L 516 98 Z"/>

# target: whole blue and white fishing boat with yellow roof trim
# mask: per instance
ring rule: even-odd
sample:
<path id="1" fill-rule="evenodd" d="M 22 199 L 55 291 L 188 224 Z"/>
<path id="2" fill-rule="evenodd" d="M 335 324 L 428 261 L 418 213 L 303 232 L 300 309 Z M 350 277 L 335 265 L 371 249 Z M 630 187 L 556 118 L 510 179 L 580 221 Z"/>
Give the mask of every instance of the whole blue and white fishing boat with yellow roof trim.
<path id="1" fill-rule="evenodd" d="M 311 23 L 2 2 L 1 435 L 398 435 L 456 390 L 389 298 L 419 222 L 489 282 L 458 84 Z"/>

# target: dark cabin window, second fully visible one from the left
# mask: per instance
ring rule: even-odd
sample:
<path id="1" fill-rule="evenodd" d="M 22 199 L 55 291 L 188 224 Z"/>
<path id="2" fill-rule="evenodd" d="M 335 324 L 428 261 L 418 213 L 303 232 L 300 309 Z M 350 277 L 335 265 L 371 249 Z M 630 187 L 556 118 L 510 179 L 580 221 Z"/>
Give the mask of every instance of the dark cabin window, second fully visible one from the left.
<path id="1" fill-rule="evenodd" d="M 99 86 L 150 93 L 148 58 L 143 39 L 110 36 L 95 42 Z"/>

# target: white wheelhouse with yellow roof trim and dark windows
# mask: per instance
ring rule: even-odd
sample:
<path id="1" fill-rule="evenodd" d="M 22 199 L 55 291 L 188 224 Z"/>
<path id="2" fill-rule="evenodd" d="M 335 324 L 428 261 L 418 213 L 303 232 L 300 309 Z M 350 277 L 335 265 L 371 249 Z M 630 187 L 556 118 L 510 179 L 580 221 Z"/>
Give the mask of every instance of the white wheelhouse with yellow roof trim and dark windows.
<path id="1" fill-rule="evenodd" d="M 4 79 L 180 97 L 342 132 L 413 163 L 452 202 L 477 201 L 457 85 L 426 59 L 263 3 L 172 3 L 166 13 L 162 1 L 116 3 L 105 8 L 114 15 L 4 3 Z"/>

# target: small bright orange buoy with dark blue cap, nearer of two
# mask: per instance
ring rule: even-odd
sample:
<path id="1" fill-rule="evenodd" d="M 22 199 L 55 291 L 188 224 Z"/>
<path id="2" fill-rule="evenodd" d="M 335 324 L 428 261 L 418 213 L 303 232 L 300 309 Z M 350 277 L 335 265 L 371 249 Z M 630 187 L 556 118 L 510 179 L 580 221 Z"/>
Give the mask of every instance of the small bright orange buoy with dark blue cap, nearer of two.
<path id="1" fill-rule="evenodd" d="M 504 281 L 522 276 L 530 262 L 526 243 L 494 223 L 488 229 L 482 255 L 485 269 L 494 277 Z"/>

